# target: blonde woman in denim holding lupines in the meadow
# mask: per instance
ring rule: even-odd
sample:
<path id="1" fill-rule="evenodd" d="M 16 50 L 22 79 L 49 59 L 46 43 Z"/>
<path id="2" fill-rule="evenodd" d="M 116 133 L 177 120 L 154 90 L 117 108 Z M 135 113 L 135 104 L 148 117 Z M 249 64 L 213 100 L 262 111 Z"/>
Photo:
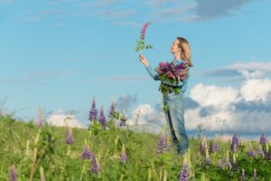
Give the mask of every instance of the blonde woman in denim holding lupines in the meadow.
<path id="1" fill-rule="evenodd" d="M 182 37 L 177 37 L 177 39 L 173 42 L 171 46 L 171 52 L 174 55 L 173 64 L 177 65 L 179 63 L 187 63 L 189 67 L 192 67 L 191 60 L 191 50 L 190 45 Z M 145 68 L 150 74 L 150 76 L 154 79 L 154 81 L 159 81 L 159 74 L 154 71 L 154 69 L 150 66 L 149 62 L 145 59 L 145 57 L 140 54 L 139 59 L 142 63 L 145 64 Z M 189 75 L 185 78 L 184 81 L 180 81 L 177 85 L 181 88 L 181 92 L 176 94 L 174 91 L 172 93 L 164 95 L 164 103 L 168 106 L 168 110 L 165 112 L 165 118 L 167 120 L 167 124 L 171 129 L 172 138 L 173 138 L 173 146 L 178 154 L 183 155 L 185 151 L 189 148 L 189 140 L 186 134 L 186 130 L 184 127 L 184 98 L 183 93 L 187 88 L 187 81 L 189 79 Z M 173 86 L 167 84 L 167 86 Z"/>

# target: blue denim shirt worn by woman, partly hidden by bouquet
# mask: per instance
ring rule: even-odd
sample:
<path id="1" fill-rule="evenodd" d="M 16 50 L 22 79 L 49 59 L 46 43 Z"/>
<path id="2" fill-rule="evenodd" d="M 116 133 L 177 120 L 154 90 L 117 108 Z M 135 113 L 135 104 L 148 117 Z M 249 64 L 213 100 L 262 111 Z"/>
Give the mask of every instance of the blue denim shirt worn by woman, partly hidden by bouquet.
<path id="1" fill-rule="evenodd" d="M 177 65 L 177 64 L 180 64 L 182 63 L 182 60 L 176 60 L 173 62 L 174 65 Z M 148 66 L 145 66 L 146 70 L 148 71 L 149 75 L 154 79 L 154 81 L 159 81 L 159 74 L 157 71 L 154 70 L 154 68 L 149 64 Z M 182 93 L 184 93 L 187 89 L 187 81 L 189 79 L 189 74 L 186 76 L 186 78 L 183 80 L 183 81 L 179 81 L 178 82 L 178 87 L 181 88 L 182 90 Z M 167 84 L 167 85 L 170 85 L 170 86 L 175 86 L 171 83 L 164 83 L 164 84 Z"/>

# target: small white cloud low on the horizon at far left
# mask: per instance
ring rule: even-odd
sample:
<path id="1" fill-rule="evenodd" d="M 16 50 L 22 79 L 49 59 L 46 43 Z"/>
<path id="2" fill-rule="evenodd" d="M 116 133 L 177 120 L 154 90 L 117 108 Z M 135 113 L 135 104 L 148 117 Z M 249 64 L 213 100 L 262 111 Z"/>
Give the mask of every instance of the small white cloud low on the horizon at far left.
<path id="1" fill-rule="evenodd" d="M 69 117 L 70 119 L 67 119 L 67 117 Z M 62 110 L 57 110 L 56 112 L 52 113 L 50 116 L 48 116 L 46 121 L 52 126 L 63 127 L 65 125 L 64 124 L 65 119 L 67 119 L 69 127 L 83 128 L 79 120 L 76 119 L 74 115 L 65 114 L 63 113 Z"/>

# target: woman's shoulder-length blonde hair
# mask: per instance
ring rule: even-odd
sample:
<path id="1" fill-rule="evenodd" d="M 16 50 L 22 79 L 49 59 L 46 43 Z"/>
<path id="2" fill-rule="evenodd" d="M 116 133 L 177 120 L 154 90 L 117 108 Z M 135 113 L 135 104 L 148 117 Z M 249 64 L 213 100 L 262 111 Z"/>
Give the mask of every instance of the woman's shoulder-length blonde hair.
<path id="1" fill-rule="evenodd" d="M 181 49 L 181 59 L 187 62 L 188 66 L 192 67 L 191 50 L 188 41 L 185 38 L 177 37 L 179 40 L 178 47 Z"/>

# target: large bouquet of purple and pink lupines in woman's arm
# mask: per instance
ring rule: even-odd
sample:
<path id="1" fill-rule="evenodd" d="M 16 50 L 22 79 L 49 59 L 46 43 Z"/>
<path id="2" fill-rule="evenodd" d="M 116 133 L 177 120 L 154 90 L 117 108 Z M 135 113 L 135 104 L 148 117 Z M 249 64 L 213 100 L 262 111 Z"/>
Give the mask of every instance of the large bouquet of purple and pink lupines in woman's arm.
<path id="1" fill-rule="evenodd" d="M 164 95 L 168 93 L 180 93 L 181 88 L 178 86 L 180 81 L 184 81 L 188 76 L 189 66 L 186 62 L 175 65 L 173 62 L 160 62 L 155 71 L 159 74 L 161 84 L 159 90 Z"/>

